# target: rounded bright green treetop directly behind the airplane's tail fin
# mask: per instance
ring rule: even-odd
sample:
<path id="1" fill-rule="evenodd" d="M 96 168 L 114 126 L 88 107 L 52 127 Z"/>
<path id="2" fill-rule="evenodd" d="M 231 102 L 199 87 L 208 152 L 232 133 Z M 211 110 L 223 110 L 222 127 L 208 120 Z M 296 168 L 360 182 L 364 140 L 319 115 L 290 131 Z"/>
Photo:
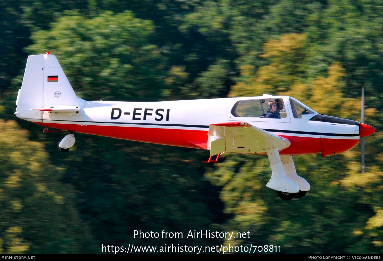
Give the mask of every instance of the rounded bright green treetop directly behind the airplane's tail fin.
<path id="1" fill-rule="evenodd" d="M 55 54 L 84 99 L 148 100 L 159 96 L 164 78 L 165 57 L 148 41 L 153 30 L 130 11 L 92 19 L 72 13 L 33 33 L 27 49 Z"/>

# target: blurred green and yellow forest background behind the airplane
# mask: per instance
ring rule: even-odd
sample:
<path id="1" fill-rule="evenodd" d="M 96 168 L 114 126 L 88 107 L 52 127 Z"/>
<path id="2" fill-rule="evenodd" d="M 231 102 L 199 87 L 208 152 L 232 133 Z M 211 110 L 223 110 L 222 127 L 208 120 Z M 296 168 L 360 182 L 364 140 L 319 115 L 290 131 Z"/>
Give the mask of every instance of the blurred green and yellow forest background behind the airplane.
<path id="1" fill-rule="evenodd" d="M 0 253 L 101 253 L 128 246 L 277 245 L 282 253 L 382 254 L 382 0 L 0 0 Z M 77 133 L 18 120 L 26 59 L 56 55 L 86 100 L 291 95 L 319 113 L 376 128 L 360 146 L 294 156 L 311 184 L 281 200 L 265 156 Z M 133 238 L 133 230 L 183 232 Z M 189 230 L 251 238 L 186 238 Z"/>

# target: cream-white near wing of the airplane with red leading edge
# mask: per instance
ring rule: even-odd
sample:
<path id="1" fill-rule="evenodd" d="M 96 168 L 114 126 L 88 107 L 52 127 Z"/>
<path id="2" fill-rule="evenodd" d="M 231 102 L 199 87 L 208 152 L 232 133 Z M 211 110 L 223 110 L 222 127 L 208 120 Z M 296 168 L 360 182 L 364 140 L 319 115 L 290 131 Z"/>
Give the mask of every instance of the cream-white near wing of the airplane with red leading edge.
<path id="1" fill-rule="evenodd" d="M 246 122 L 227 122 L 209 125 L 208 148 L 210 156 L 223 152 L 266 153 L 290 146 L 290 141 Z"/>

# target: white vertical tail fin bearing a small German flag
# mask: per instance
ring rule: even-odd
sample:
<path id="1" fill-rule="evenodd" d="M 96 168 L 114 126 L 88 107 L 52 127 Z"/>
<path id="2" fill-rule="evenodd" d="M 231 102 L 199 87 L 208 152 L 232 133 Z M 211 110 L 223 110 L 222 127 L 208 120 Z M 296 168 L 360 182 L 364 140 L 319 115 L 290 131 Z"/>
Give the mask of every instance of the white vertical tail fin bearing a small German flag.
<path id="1" fill-rule="evenodd" d="M 75 105 L 76 98 L 56 56 L 52 54 L 28 56 L 23 84 L 16 100 L 17 117 L 40 120 L 42 112 L 30 109 Z"/>

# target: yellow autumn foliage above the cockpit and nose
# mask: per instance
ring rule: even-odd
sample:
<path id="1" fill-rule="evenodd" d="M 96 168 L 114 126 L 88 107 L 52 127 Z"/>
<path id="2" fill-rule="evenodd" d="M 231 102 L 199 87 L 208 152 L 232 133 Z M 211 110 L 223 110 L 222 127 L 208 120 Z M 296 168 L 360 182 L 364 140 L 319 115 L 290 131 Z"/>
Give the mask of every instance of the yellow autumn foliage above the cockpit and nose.
<path id="1" fill-rule="evenodd" d="M 262 94 L 286 95 L 301 100 L 318 113 L 341 118 L 358 119 L 361 102 L 354 98 L 345 98 L 344 69 L 339 62 L 333 62 L 327 68 L 327 77 L 316 77 L 309 82 L 303 75 L 304 34 L 282 34 L 279 40 L 271 39 L 264 44 L 264 54 L 260 57 L 270 61 L 254 72 L 253 66 L 242 66 L 244 81 L 232 86 L 229 97 L 249 97 Z M 365 116 L 376 115 L 375 108 L 367 108 Z"/>

